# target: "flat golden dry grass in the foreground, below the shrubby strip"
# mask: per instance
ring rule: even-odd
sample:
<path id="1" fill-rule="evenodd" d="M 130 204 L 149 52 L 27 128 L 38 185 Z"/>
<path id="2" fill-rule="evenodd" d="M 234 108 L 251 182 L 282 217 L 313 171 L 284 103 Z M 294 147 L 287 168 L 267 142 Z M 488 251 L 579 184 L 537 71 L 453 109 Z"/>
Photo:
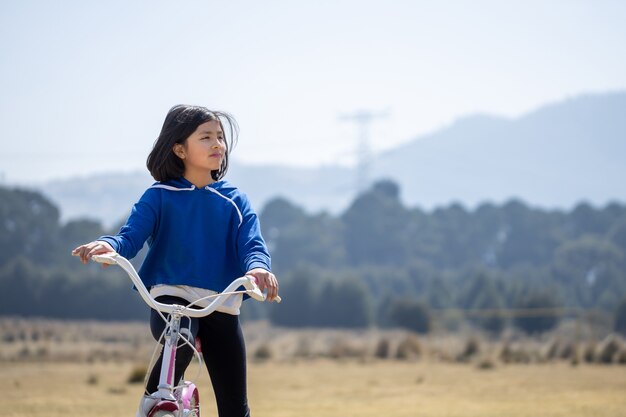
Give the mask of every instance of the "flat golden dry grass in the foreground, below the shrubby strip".
<path id="1" fill-rule="evenodd" d="M 132 416 L 141 392 L 126 382 L 133 365 L 3 363 L 5 417 Z M 399 361 L 251 363 L 250 405 L 256 417 L 623 417 L 624 367 Z M 203 412 L 215 415 L 208 377 Z"/>

